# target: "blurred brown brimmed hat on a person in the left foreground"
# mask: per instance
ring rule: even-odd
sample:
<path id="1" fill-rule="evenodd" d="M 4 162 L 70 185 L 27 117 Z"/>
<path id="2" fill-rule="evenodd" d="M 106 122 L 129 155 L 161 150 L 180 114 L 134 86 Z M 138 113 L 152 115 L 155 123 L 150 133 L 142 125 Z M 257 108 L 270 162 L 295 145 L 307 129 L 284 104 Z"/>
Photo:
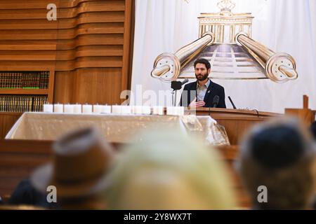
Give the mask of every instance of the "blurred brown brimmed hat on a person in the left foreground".
<path id="1" fill-rule="evenodd" d="M 31 176 L 35 188 L 47 193 L 55 186 L 58 197 L 93 195 L 110 184 L 108 171 L 114 149 L 94 127 L 66 134 L 53 144 L 53 162 L 39 167 Z"/>

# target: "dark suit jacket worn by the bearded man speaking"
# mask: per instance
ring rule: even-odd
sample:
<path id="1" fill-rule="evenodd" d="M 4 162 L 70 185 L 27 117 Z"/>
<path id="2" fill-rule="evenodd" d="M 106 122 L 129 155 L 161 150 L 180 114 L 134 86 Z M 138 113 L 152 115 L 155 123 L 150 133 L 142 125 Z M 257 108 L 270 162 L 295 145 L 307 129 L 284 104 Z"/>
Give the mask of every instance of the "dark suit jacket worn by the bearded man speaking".
<path id="1" fill-rule="evenodd" d="M 213 107 L 213 99 L 216 95 L 219 97 L 219 102 L 216 107 L 226 108 L 225 90 L 223 86 L 213 83 L 212 81 L 209 84 L 204 97 L 204 107 Z M 193 101 L 193 99 L 195 99 L 195 97 L 197 97 L 197 81 L 185 85 L 181 95 L 180 106 L 188 106 Z M 185 99 L 187 99 L 187 101 Z"/>

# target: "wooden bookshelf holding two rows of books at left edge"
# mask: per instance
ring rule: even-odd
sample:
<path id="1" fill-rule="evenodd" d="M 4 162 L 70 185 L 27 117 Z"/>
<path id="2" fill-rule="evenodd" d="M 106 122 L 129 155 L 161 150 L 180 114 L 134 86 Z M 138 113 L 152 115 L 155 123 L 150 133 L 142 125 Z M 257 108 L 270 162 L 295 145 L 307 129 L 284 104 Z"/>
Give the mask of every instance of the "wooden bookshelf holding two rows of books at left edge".
<path id="1" fill-rule="evenodd" d="M 0 71 L 0 112 L 42 111 L 53 103 L 54 69 Z"/>

